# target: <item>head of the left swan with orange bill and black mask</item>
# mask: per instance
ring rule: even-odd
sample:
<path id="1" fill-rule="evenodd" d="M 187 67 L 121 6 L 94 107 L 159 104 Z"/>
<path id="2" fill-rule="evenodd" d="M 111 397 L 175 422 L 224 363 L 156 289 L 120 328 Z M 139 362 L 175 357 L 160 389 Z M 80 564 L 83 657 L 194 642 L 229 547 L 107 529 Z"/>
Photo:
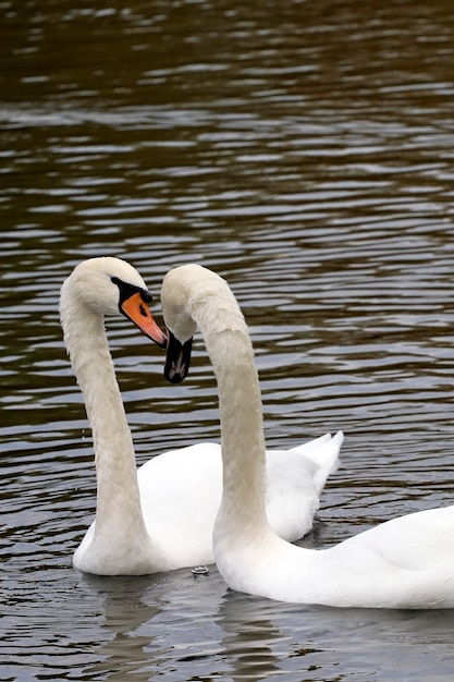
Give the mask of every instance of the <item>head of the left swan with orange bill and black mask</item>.
<path id="1" fill-rule="evenodd" d="M 165 334 L 149 309 L 151 294 L 132 265 L 113 257 L 89 258 L 77 265 L 61 289 L 60 308 L 77 300 L 98 315 L 122 315 L 159 346 L 167 346 Z"/>

